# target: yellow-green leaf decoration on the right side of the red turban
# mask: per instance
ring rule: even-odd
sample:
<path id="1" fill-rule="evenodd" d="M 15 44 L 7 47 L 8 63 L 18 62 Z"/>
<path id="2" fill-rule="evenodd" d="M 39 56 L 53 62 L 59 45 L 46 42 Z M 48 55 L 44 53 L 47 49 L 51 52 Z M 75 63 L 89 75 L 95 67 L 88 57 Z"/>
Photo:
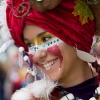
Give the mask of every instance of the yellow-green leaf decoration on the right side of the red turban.
<path id="1" fill-rule="evenodd" d="M 72 14 L 74 14 L 74 16 L 79 16 L 79 20 L 81 21 L 82 25 L 88 23 L 88 19 L 94 19 L 93 13 L 85 1 L 76 0 L 75 3 L 76 6 L 74 7 Z"/>

